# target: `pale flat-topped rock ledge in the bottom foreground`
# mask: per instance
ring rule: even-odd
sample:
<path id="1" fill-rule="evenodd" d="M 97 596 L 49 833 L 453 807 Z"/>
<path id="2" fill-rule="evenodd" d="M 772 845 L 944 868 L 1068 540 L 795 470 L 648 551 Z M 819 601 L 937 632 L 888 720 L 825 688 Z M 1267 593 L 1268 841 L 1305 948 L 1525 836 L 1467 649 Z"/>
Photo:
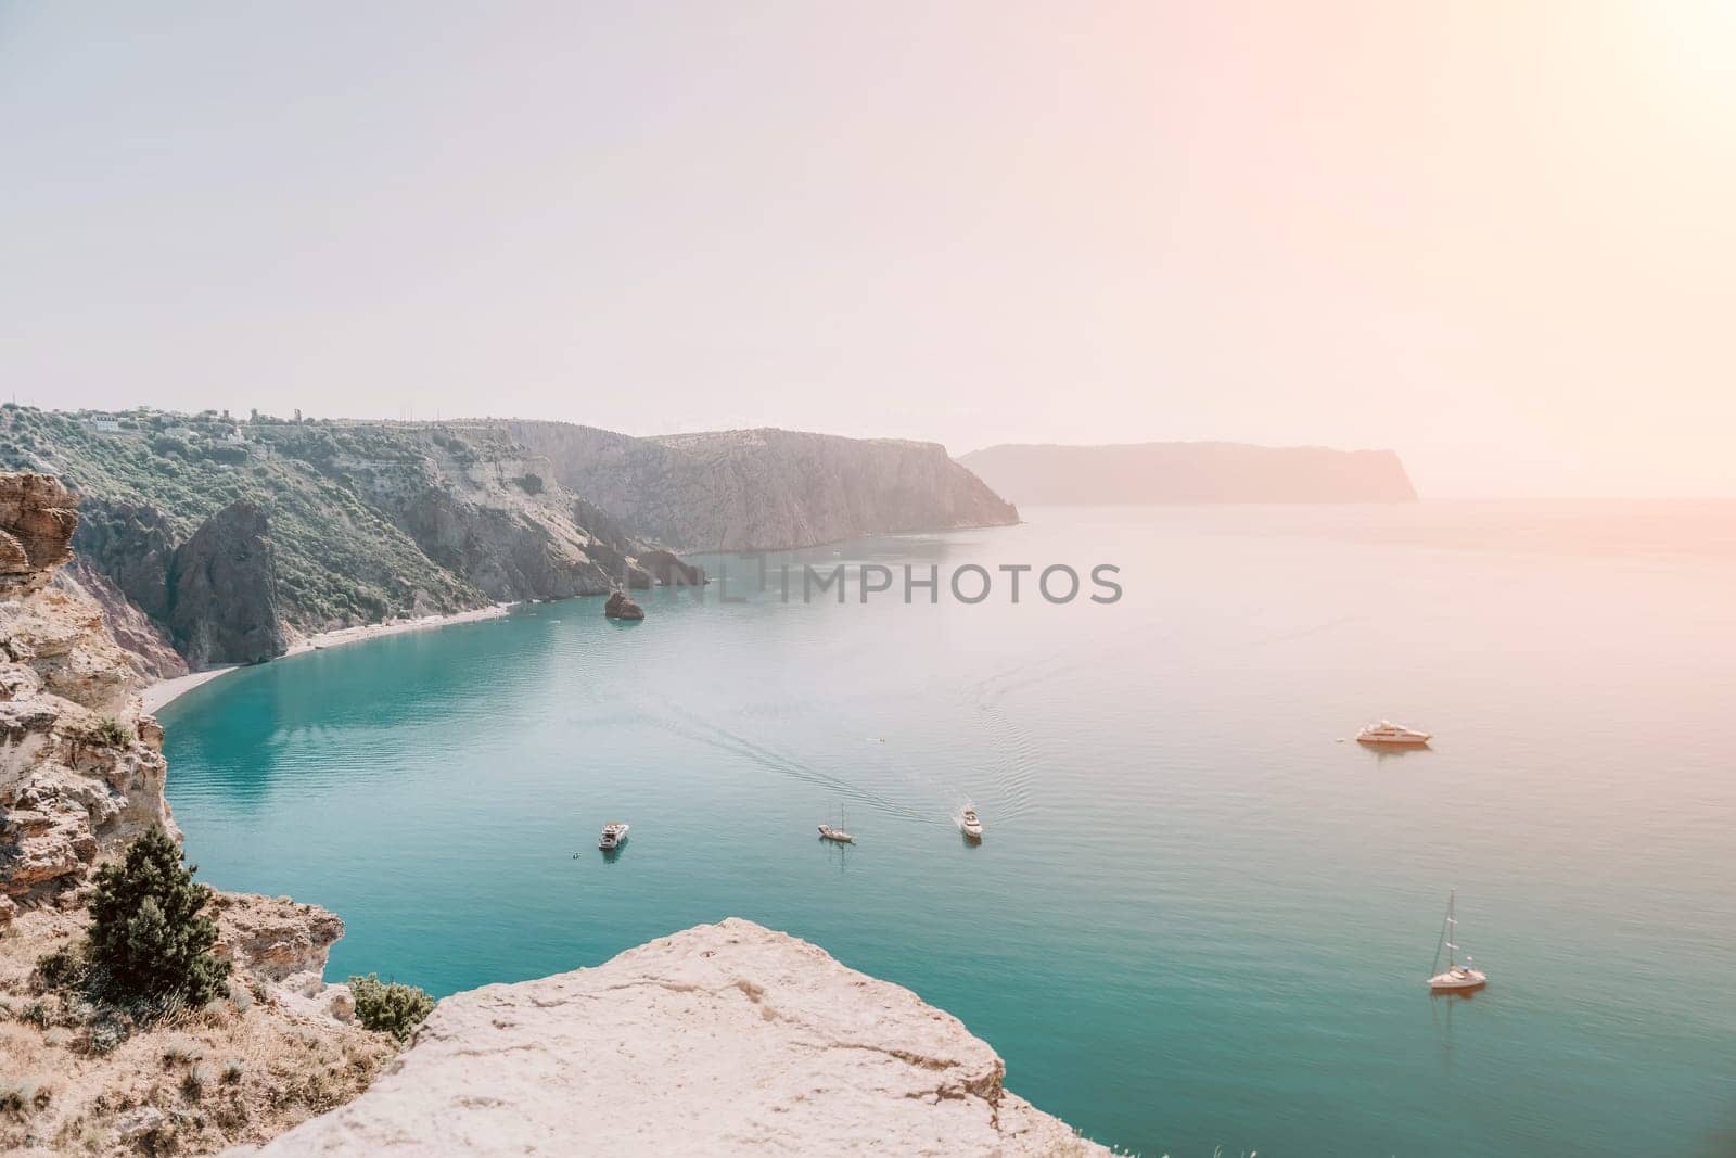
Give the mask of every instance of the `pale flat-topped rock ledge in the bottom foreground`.
<path id="1" fill-rule="evenodd" d="M 281 1155 L 1108 1155 L 910 990 L 746 920 L 439 1003 Z"/>

